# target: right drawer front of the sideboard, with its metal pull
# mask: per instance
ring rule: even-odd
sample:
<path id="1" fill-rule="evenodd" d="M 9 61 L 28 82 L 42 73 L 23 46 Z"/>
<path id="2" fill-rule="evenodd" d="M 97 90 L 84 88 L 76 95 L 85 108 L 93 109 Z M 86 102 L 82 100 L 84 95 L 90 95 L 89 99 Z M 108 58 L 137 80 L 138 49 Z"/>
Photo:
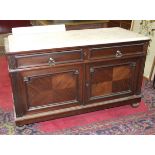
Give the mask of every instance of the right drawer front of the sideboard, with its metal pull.
<path id="1" fill-rule="evenodd" d="M 143 44 L 91 48 L 90 59 L 120 58 L 143 53 Z"/>

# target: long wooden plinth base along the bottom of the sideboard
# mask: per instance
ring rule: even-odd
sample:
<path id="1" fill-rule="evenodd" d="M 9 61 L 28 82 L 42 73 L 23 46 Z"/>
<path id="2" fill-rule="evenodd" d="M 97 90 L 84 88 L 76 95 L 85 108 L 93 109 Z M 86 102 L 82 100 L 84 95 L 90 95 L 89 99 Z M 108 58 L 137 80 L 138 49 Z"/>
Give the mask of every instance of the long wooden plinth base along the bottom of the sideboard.
<path id="1" fill-rule="evenodd" d="M 30 115 L 27 114 L 23 117 L 18 117 L 16 118 L 16 125 L 22 126 L 24 124 L 47 121 L 47 120 L 68 117 L 73 115 L 79 115 L 79 114 L 93 112 L 97 110 L 123 106 L 131 103 L 137 104 L 140 102 L 140 100 L 141 100 L 140 96 L 132 96 L 132 97 L 126 97 L 126 98 L 122 97 L 116 100 L 110 100 L 105 102 L 98 102 L 98 103 L 94 103 L 86 106 L 77 106 L 73 108 L 66 108 L 66 109 L 55 110 L 55 111 L 52 111 L 49 109 L 46 112 L 33 113 Z"/>

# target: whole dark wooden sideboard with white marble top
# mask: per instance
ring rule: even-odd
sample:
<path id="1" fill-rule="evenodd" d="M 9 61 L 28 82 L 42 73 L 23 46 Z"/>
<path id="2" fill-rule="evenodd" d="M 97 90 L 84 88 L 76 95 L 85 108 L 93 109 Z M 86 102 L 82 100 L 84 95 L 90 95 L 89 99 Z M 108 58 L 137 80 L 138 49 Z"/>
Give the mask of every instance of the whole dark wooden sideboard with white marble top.
<path id="1" fill-rule="evenodd" d="M 16 124 L 138 106 L 149 40 L 122 28 L 8 36 Z"/>

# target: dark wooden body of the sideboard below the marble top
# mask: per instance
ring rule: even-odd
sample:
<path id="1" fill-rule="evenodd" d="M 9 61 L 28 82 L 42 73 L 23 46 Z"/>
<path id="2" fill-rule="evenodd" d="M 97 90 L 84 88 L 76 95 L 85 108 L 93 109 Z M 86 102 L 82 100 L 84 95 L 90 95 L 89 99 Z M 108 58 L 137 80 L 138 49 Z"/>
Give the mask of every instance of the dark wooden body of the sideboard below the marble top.
<path id="1" fill-rule="evenodd" d="M 7 53 L 16 124 L 138 105 L 147 46 L 135 41 Z"/>

